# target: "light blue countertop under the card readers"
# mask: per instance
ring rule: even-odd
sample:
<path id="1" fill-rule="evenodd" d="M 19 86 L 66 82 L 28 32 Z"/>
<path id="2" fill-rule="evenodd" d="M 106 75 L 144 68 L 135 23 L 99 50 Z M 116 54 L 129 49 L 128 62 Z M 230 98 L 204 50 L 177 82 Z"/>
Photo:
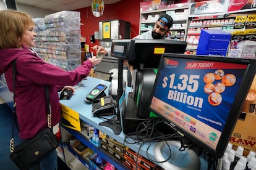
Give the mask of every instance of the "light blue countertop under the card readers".
<path id="1" fill-rule="evenodd" d="M 93 127 L 96 127 L 96 129 L 99 129 L 102 132 L 105 132 L 108 134 L 108 136 L 113 137 L 113 139 L 116 139 L 117 141 L 124 143 L 124 139 L 126 135 L 121 132 L 119 135 L 114 134 L 113 130 L 106 126 L 100 126 L 99 123 L 106 121 L 106 119 L 101 119 L 98 117 L 94 117 L 92 114 L 92 104 L 88 104 L 84 101 L 86 95 L 92 91 L 92 89 L 98 85 L 98 84 L 105 84 L 107 86 L 110 85 L 109 81 L 104 81 L 97 78 L 88 77 L 87 79 L 82 81 L 83 85 L 75 89 L 75 94 L 72 95 L 70 100 L 60 100 L 60 103 L 64 105 L 67 108 L 70 108 L 71 110 L 76 111 L 79 113 L 79 118 L 82 119 L 82 121 L 85 121 L 86 123 L 90 124 Z M 130 87 L 126 87 L 126 98 L 128 93 L 131 91 Z M 106 95 L 108 95 L 108 88 L 105 90 Z M 113 118 L 113 116 L 105 116 L 105 118 Z M 133 142 L 132 139 L 128 139 L 130 142 Z M 140 154 L 148 158 L 155 158 L 154 149 L 155 144 L 151 144 L 150 148 L 148 149 L 148 144 L 143 144 L 142 147 L 140 147 L 139 144 L 127 144 L 125 145 L 135 152 L 140 150 Z M 172 154 L 175 154 L 175 152 Z M 148 156 L 147 156 L 148 155 Z M 205 160 L 200 158 L 201 162 L 201 168 L 200 169 L 207 169 L 207 164 L 205 163 Z M 184 163 L 184 161 L 183 161 Z M 156 163 L 158 164 L 158 163 Z M 160 164 L 161 166 L 161 164 Z"/>

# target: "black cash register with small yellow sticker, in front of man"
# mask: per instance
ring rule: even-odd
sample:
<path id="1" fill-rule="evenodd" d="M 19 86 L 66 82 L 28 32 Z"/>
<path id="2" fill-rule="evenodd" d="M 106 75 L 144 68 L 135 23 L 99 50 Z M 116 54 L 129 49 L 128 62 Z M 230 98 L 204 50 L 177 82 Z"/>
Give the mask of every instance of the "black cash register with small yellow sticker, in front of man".
<path id="1" fill-rule="evenodd" d="M 127 60 L 133 67 L 132 92 L 127 98 L 126 111 L 121 115 L 122 129 L 125 134 L 135 132 L 139 123 L 150 118 L 148 102 L 161 55 L 164 53 L 184 54 L 186 47 L 186 41 L 167 39 L 113 40 L 111 55 L 118 57 L 121 62 Z M 119 83 L 122 81 L 122 76 L 120 77 L 118 76 Z M 122 89 L 121 86 L 122 84 L 120 84 L 120 89 Z"/>

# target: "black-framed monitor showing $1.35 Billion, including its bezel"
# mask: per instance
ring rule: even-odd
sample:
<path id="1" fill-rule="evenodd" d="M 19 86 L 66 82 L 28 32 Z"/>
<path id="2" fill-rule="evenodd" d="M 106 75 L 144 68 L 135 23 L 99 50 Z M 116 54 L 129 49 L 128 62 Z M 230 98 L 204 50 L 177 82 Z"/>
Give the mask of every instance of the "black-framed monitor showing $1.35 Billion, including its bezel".
<path id="1" fill-rule="evenodd" d="M 255 60 L 163 54 L 149 108 L 220 158 L 254 75 Z"/>

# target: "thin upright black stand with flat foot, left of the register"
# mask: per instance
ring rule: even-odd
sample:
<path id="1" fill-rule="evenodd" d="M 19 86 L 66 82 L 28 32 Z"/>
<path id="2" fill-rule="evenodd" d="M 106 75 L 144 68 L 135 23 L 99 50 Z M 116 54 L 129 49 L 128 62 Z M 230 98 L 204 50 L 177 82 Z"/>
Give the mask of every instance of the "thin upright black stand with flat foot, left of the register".
<path id="1" fill-rule="evenodd" d="M 120 116 L 120 110 L 119 110 L 119 100 L 122 97 L 122 94 L 124 92 L 123 86 L 122 86 L 122 72 L 123 72 L 123 59 L 118 59 L 118 87 L 117 87 L 117 115 L 114 116 L 111 119 L 108 119 L 107 121 L 101 122 L 100 126 L 106 126 L 113 130 L 114 134 L 119 135 L 122 131 L 121 126 L 121 116 Z"/>

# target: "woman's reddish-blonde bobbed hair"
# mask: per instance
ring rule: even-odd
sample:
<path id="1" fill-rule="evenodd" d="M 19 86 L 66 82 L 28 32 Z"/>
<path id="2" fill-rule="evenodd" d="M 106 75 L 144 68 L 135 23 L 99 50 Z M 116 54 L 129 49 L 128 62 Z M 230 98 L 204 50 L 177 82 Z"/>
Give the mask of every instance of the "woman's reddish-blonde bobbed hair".
<path id="1" fill-rule="evenodd" d="M 25 28 L 35 25 L 30 15 L 16 10 L 0 10 L 0 20 L 0 49 L 20 47 Z"/>

